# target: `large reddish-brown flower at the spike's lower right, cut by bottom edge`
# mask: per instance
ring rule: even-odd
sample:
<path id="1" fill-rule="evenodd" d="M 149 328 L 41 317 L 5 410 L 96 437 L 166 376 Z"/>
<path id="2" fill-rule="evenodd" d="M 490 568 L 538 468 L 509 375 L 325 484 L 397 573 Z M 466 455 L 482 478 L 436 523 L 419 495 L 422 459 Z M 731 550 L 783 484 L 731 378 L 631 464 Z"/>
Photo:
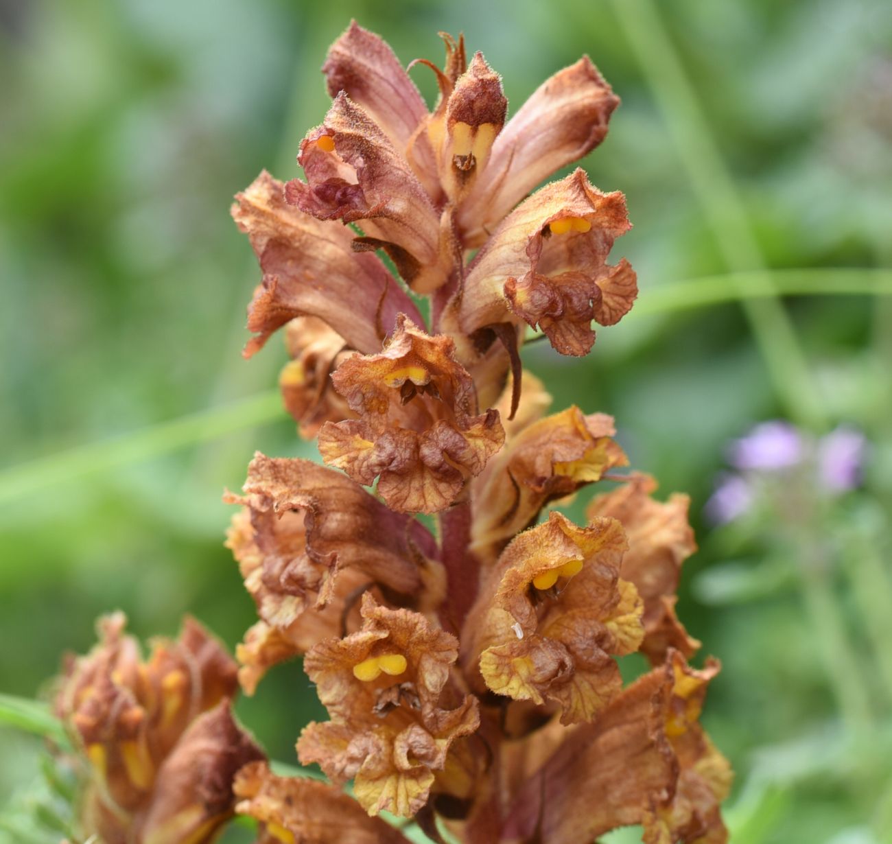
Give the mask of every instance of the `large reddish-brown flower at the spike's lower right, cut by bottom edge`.
<path id="1" fill-rule="evenodd" d="M 730 768 L 698 724 L 717 671 L 714 661 L 696 671 L 670 651 L 665 665 L 572 732 L 527 780 L 501 840 L 538 834 L 549 844 L 577 844 L 640 823 L 646 844 L 723 844 L 718 806 Z"/>

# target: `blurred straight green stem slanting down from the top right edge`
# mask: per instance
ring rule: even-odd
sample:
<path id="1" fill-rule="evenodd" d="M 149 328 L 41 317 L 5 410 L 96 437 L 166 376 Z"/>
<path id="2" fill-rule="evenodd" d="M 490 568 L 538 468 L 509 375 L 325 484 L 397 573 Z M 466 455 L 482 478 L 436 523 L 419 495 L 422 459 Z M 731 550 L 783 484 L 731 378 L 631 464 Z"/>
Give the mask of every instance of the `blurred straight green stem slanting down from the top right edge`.
<path id="1" fill-rule="evenodd" d="M 800 424 L 822 429 L 825 414 L 789 316 L 778 301 L 743 199 L 723 161 L 654 0 L 611 0 L 673 137 L 690 185 L 728 269 L 747 272 L 739 301 L 778 401 Z M 752 294 L 752 291 L 756 291 Z"/>

